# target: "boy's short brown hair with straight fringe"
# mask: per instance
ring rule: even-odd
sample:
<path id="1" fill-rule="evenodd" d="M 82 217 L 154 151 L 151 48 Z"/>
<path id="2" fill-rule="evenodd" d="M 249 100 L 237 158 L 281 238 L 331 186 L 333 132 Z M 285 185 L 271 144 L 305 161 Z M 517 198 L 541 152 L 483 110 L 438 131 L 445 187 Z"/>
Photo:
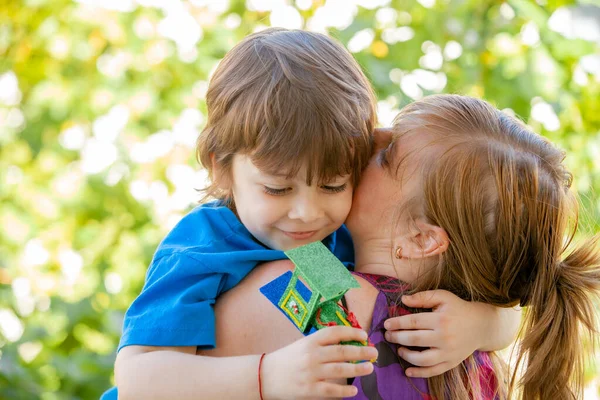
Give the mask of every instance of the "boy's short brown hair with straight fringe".
<path id="1" fill-rule="evenodd" d="M 220 178 L 235 154 L 290 177 L 306 165 L 307 184 L 345 174 L 355 184 L 371 155 L 373 90 L 350 53 L 323 34 L 271 28 L 246 37 L 219 64 L 206 103 L 196 148 L 211 178 L 205 198 L 231 200 Z"/>

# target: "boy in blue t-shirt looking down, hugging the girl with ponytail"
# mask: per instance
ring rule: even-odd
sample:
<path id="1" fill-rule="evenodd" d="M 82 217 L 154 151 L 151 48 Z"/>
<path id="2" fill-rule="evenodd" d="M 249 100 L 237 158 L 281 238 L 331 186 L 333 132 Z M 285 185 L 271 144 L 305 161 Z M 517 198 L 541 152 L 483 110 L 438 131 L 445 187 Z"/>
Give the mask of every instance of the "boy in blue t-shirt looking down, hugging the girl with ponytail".
<path id="1" fill-rule="evenodd" d="M 206 195 L 218 200 L 185 216 L 157 249 L 125 316 L 115 366 L 119 398 L 146 398 L 145 389 L 185 398 L 185 385 L 174 385 L 183 390 L 175 393 L 173 382 L 160 379 L 161 368 L 198 367 L 203 375 L 222 368 L 223 382 L 195 387 L 203 398 L 215 388 L 227 398 L 245 397 L 248 387 L 256 392 L 256 356 L 181 352 L 215 346 L 216 297 L 258 263 L 285 258 L 282 250 L 321 240 L 340 260 L 353 259 L 342 224 L 371 155 L 375 104 L 356 61 L 325 35 L 268 29 L 227 53 L 210 81 L 197 146 L 211 177 Z M 339 343 L 331 331 L 322 335 Z M 351 331 L 343 338 L 364 333 Z M 358 359 L 373 358 L 373 351 L 361 350 Z M 367 364 L 357 371 L 369 373 Z"/>

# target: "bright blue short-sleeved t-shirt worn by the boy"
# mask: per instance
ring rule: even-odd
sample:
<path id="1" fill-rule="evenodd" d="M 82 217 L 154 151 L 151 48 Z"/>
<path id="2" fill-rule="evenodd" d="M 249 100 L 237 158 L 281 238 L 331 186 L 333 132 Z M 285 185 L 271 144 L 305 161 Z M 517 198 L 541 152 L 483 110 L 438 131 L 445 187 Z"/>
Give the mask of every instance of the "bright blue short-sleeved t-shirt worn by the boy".
<path id="1" fill-rule="evenodd" d="M 345 226 L 323 243 L 342 262 L 354 260 Z M 146 283 L 123 322 L 125 346 L 214 348 L 215 299 L 237 285 L 254 267 L 286 258 L 258 242 L 236 215 L 218 202 L 196 207 L 158 246 Z M 115 388 L 102 400 L 115 399 Z"/>

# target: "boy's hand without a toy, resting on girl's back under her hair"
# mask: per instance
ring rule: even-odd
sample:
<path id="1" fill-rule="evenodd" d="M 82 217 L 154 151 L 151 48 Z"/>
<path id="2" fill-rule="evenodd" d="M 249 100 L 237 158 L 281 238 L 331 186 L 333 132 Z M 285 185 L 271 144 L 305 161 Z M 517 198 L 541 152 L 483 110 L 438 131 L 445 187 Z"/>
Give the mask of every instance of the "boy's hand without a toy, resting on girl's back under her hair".
<path id="1" fill-rule="evenodd" d="M 408 368 L 407 376 L 429 378 L 443 374 L 482 347 L 495 307 L 462 300 L 446 290 L 402 296 L 413 308 L 431 308 L 385 321 L 386 340 L 400 345 L 398 355 L 422 368 Z M 404 346 L 429 347 L 424 351 Z"/>

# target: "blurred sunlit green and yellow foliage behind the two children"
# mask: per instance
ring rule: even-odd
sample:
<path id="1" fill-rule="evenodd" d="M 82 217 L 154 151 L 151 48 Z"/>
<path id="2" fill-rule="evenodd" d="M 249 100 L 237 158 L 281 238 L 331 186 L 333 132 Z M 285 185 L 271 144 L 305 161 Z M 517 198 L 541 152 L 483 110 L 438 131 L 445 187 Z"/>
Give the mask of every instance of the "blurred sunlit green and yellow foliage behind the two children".
<path id="1" fill-rule="evenodd" d="M 600 39 L 557 17 L 598 15 L 581 3 L 1 2 L 0 397 L 112 385 L 124 310 L 203 183 L 193 145 L 211 70 L 272 23 L 325 26 L 353 50 L 384 124 L 435 92 L 513 110 L 567 151 L 583 231 L 600 231 Z"/>

